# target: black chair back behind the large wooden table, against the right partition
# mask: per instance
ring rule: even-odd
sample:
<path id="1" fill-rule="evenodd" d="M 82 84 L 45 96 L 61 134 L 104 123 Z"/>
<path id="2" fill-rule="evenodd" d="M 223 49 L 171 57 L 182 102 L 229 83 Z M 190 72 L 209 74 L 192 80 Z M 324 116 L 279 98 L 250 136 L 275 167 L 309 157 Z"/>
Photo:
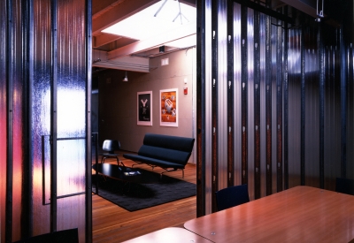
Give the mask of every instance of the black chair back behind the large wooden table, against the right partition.
<path id="1" fill-rule="evenodd" d="M 215 193 L 218 211 L 235 207 L 250 201 L 247 184 L 230 186 Z"/>

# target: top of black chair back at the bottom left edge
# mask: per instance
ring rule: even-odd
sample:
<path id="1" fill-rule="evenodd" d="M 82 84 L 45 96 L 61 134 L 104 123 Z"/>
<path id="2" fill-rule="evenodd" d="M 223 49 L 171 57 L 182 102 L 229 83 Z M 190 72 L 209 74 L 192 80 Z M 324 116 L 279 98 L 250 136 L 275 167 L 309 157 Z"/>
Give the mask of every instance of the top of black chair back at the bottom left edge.
<path id="1" fill-rule="evenodd" d="M 59 232 L 52 232 L 37 235 L 28 239 L 21 239 L 19 241 L 15 241 L 15 243 L 42 243 L 42 242 L 50 242 L 50 243 L 78 243 L 79 242 L 79 232 L 78 229 L 71 229 Z"/>

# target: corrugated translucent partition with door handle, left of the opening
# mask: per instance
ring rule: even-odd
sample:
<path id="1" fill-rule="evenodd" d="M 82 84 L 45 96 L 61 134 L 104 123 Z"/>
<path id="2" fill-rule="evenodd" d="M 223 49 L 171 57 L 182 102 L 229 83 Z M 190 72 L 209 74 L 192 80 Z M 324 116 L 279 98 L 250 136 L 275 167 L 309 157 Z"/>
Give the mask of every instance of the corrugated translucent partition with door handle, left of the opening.
<path id="1" fill-rule="evenodd" d="M 1 242 L 73 228 L 91 242 L 91 2 L 0 11 Z"/>

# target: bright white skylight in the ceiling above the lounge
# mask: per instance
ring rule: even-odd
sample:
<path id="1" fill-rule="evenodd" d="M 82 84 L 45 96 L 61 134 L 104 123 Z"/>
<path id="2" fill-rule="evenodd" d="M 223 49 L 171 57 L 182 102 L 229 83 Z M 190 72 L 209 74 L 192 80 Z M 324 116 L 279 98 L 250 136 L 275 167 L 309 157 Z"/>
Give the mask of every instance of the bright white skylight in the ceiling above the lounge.
<path id="1" fill-rule="evenodd" d="M 196 26 L 196 8 L 175 0 L 162 0 L 102 32 L 145 40 L 187 25 Z"/>

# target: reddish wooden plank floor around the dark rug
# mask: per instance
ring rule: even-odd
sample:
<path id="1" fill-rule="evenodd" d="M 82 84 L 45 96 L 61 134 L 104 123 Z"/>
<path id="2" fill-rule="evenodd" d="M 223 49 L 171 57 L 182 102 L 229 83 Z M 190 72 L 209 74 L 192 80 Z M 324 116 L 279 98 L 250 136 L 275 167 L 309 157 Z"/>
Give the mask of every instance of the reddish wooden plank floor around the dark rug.
<path id="1" fill-rule="evenodd" d="M 124 159 L 121 154 L 119 155 L 119 160 L 122 160 L 126 166 L 130 167 L 133 164 L 132 161 Z M 108 159 L 106 163 L 117 163 L 117 161 Z M 138 165 L 137 167 L 151 170 L 147 165 Z M 154 171 L 161 172 L 163 170 L 155 168 Z M 187 164 L 184 178 L 182 178 L 181 171 L 168 172 L 167 175 L 196 184 L 196 165 Z M 196 218 L 196 196 L 129 212 L 93 194 L 92 216 L 93 242 L 121 242 L 165 227 L 183 227 L 186 221 Z"/>

